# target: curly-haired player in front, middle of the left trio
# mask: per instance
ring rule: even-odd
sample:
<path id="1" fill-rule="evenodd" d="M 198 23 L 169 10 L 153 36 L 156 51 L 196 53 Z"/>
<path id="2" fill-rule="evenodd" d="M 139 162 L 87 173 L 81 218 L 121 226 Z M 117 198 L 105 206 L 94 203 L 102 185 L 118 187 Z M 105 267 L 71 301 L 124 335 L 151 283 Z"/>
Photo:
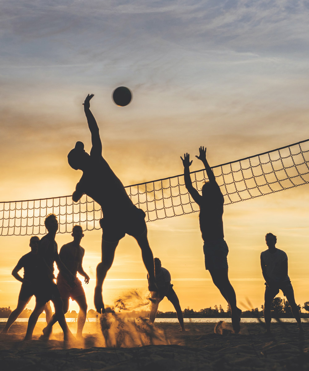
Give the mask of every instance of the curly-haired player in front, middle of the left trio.
<path id="1" fill-rule="evenodd" d="M 55 241 L 55 236 L 58 230 L 58 221 L 54 214 L 50 214 L 45 219 L 45 227 L 47 234 L 42 237 L 39 244 L 38 260 L 35 290 L 34 296 L 36 297 L 36 305 L 29 317 L 28 327 L 26 332 L 25 340 L 31 340 L 39 315 L 43 312 L 46 303 L 51 300 L 55 307 L 56 320 L 59 322 L 64 334 L 64 340 L 70 340 L 74 338 L 70 332 L 68 325 L 65 321 L 65 315 L 63 313 L 63 302 L 60 298 L 59 290 L 57 289 L 56 283 L 53 282 L 54 276 L 54 262 L 57 263 L 57 267 L 60 272 L 66 277 L 68 282 L 74 286 L 74 277 L 72 273 L 65 267 L 58 255 L 58 247 Z"/>

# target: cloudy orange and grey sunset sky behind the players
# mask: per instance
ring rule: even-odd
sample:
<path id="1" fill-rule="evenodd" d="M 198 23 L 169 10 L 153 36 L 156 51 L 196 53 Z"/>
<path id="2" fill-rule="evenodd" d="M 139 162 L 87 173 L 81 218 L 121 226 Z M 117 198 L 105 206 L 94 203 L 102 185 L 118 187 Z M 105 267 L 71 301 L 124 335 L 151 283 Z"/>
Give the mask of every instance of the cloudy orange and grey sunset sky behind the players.
<path id="1" fill-rule="evenodd" d="M 180 155 L 194 158 L 200 145 L 213 166 L 307 139 L 308 13 L 308 1 L 1 0 L 0 201 L 72 194 L 81 172 L 67 154 L 77 140 L 91 148 L 82 106 L 88 93 L 95 94 L 103 156 L 124 185 L 183 173 Z M 117 86 L 133 93 L 124 108 L 111 99 Z M 194 158 L 191 170 L 200 168 Z M 263 303 L 259 259 L 267 232 L 289 257 L 296 302 L 309 300 L 308 206 L 303 185 L 225 207 L 240 308 Z M 148 223 L 148 231 L 183 309 L 226 307 L 204 269 L 197 213 Z M 56 238 L 59 248 L 71 239 Z M 100 231 L 86 231 L 81 244 L 94 308 Z M 29 237 L 0 237 L 0 251 L 0 306 L 13 308 L 20 283 L 11 270 L 29 251 Z M 104 301 L 112 305 L 131 289 L 146 296 L 146 274 L 137 243 L 126 236 Z M 172 309 L 167 299 L 159 306 Z"/>

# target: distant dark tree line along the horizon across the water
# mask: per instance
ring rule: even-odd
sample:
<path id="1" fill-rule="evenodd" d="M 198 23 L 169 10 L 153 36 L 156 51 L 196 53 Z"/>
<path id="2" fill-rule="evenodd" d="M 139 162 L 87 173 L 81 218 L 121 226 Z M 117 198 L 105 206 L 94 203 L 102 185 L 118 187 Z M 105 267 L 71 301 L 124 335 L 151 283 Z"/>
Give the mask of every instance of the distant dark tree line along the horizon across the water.
<path id="1" fill-rule="evenodd" d="M 300 313 L 302 318 L 309 318 L 309 301 L 305 302 L 303 306 L 298 305 L 299 310 L 305 309 L 308 313 Z M 250 309 L 244 311 L 242 313 L 242 317 L 246 318 L 257 318 L 263 316 L 264 306 L 261 305 L 261 310 L 259 308 Z M 11 308 L 0 308 L 0 318 L 7 318 L 11 313 Z M 29 318 L 30 314 L 32 313 L 31 309 L 24 309 L 22 314 L 19 318 Z M 185 308 L 184 311 L 184 318 L 227 318 L 231 316 L 230 306 L 228 305 L 226 311 L 224 311 L 223 307 L 219 305 L 214 306 L 214 308 L 204 308 L 200 309 L 199 311 L 194 311 L 193 309 Z M 94 309 L 89 309 L 87 312 L 88 318 L 95 318 L 97 316 L 97 312 Z M 68 311 L 65 314 L 66 318 L 77 318 L 78 313 L 76 311 Z M 149 311 L 132 311 L 126 312 L 126 316 L 137 318 L 137 317 L 147 317 L 149 316 Z M 276 297 L 272 303 L 272 316 L 274 318 L 293 318 L 291 308 L 289 303 L 285 299 L 281 299 Z M 42 313 L 40 317 L 44 318 L 45 314 Z M 157 312 L 157 318 L 177 318 L 176 312 Z"/>

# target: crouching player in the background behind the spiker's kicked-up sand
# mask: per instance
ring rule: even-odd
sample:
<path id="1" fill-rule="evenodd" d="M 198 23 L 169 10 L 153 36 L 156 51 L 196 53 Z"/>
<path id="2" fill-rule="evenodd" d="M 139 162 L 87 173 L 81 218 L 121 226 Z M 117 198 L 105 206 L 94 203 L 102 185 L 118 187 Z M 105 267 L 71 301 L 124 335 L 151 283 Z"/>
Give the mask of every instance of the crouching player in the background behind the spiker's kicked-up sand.
<path id="1" fill-rule="evenodd" d="M 149 313 L 149 321 L 154 323 L 155 315 L 157 314 L 159 303 L 164 299 L 164 296 L 174 305 L 177 318 L 180 324 L 182 331 L 185 331 L 184 328 L 184 316 L 180 308 L 179 299 L 171 285 L 171 275 L 167 269 L 161 266 L 161 260 L 157 257 L 154 258 L 155 265 L 155 281 L 158 286 L 157 292 L 151 293 L 151 310 Z M 147 277 L 148 278 L 148 277 Z"/>

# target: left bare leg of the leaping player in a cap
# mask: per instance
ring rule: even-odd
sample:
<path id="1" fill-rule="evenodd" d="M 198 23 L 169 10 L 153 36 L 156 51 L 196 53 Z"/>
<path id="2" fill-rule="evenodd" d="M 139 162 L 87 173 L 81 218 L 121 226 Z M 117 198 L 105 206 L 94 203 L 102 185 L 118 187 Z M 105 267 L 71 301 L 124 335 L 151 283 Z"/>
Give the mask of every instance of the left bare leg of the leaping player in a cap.
<path id="1" fill-rule="evenodd" d="M 96 286 L 94 295 L 95 309 L 98 313 L 105 312 L 103 298 L 102 298 L 102 286 L 106 277 L 106 273 L 112 266 L 115 257 L 115 250 L 119 241 L 106 242 L 102 239 L 102 262 L 96 267 Z"/>

